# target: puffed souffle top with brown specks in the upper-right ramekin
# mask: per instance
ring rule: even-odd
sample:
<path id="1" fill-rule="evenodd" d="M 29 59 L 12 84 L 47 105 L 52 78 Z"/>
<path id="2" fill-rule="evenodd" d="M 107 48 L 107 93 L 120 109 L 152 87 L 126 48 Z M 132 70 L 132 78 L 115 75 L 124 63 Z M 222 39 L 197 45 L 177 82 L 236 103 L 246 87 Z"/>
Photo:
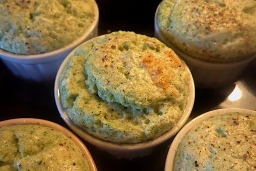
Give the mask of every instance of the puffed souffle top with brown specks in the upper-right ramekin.
<path id="1" fill-rule="evenodd" d="M 256 54 L 256 1 L 163 0 L 161 33 L 194 58 L 225 62 Z"/>

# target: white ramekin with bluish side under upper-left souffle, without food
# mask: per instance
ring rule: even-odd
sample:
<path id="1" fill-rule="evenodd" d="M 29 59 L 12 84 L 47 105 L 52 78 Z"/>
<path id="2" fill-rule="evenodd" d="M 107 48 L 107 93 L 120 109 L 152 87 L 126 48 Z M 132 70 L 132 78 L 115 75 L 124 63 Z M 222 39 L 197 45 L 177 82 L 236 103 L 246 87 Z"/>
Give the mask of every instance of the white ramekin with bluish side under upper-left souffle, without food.
<path id="1" fill-rule="evenodd" d="M 11 72 L 29 81 L 53 81 L 58 72 L 61 62 L 66 56 L 82 42 L 98 35 L 99 9 L 95 2 L 95 16 L 93 23 L 88 27 L 81 37 L 63 48 L 56 51 L 34 54 L 19 55 L 0 49 L 0 59 Z"/>

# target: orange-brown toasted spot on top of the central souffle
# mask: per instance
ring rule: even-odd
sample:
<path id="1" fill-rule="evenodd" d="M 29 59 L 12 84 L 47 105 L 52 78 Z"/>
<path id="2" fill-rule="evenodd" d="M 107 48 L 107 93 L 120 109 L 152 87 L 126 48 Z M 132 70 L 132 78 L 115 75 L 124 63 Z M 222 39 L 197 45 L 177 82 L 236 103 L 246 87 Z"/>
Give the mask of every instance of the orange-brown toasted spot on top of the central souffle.
<path id="1" fill-rule="evenodd" d="M 173 66 L 174 62 L 175 66 L 181 66 L 182 63 L 181 61 L 179 63 L 174 56 L 172 58 L 173 60 L 171 61 L 163 61 L 156 59 L 153 54 L 150 54 L 143 58 L 142 63 L 157 87 L 162 88 L 167 95 L 178 95 L 178 90 L 171 87 L 171 80 L 174 77 L 174 73 L 172 73 L 170 66 Z"/>

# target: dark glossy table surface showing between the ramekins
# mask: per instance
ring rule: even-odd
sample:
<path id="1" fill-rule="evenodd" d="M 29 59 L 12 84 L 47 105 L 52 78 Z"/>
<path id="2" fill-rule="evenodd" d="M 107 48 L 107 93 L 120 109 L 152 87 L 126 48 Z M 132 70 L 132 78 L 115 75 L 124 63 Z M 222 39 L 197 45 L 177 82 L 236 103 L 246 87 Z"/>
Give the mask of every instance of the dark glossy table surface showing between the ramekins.
<path id="1" fill-rule="evenodd" d="M 112 31 L 134 31 L 154 37 L 154 14 L 161 1 L 96 1 L 100 10 L 99 35 Z M 240 79 L 223 88 L 196 89 L 189 120 L 219 108 L 256 110 L 256 60 Z M 60 118 L 54 83 L 34 83 L 13 76 L 0 61 L 0 121 L 12 118 L 41 118 L 67 127 Z M 67 127 L 68 128 L 68 127 Z M 98 170 L 164 170 L 170 142 L 152 154 L 133 160 L 116 159 L 85 143 Z"/>

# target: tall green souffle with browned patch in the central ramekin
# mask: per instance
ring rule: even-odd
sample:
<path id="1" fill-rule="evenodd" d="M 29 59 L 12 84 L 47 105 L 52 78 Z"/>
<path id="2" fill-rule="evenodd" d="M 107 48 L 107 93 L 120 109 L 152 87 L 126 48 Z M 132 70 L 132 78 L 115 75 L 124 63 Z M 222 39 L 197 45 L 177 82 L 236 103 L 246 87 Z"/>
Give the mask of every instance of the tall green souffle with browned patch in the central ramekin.
<path id="1" fill-rule="evenodd" d="M 61 103 L 95 137 L 138 143 L 170 130 L 188 102 L 190 75 L 155 38 L 113 32 L 87 41 L 60 75 Z"/>

